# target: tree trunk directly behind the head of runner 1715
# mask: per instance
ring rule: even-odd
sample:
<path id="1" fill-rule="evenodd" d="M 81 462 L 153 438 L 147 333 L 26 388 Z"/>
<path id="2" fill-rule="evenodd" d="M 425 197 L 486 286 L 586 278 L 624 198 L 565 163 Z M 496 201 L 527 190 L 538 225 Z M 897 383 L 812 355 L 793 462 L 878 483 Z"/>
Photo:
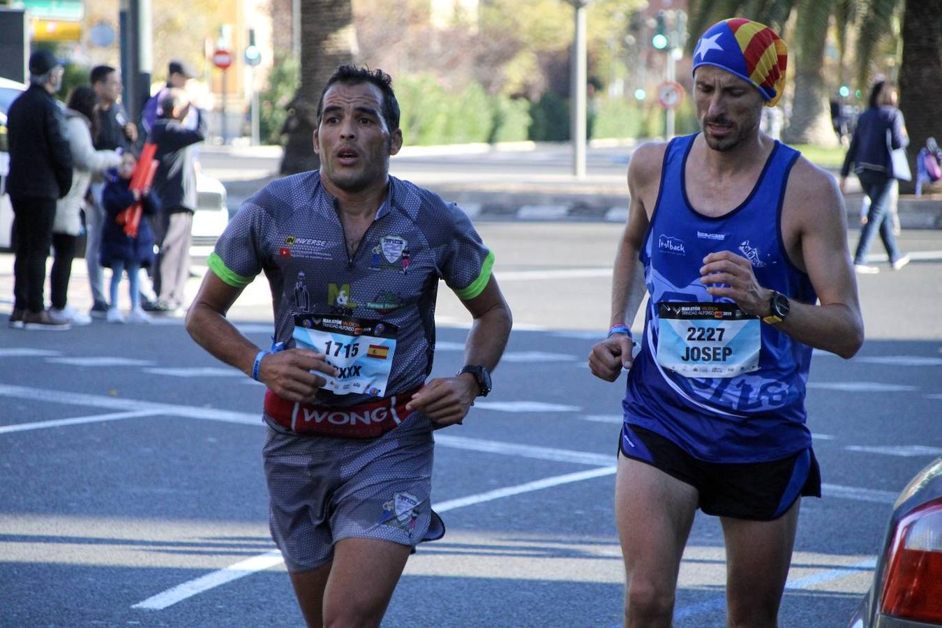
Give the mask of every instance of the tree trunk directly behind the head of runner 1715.
<path id="1" fill-rule="evenodd" d="M 320 167 L 314 153 L 317 101 L 337 66 L 353 61 L 356 35 L 351 0 L 300 0 L 300 86 L 287 105 L 282 174 Z"/>

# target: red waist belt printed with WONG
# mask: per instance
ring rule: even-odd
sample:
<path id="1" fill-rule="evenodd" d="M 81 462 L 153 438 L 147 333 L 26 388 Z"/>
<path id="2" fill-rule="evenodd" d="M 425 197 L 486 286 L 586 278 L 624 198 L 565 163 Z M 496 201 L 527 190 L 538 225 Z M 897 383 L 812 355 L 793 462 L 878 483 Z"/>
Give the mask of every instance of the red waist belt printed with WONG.
<path id="1" fill-rule="evenodd" d="M 278 425 L 298 434 L 320 434 L 350 439 L 373 439 L 398 426 L 409 416 L 406 404 L 418 388 L 376 401 L 333 408 L 288 401 L 265 392 L 265 413 Z"/>

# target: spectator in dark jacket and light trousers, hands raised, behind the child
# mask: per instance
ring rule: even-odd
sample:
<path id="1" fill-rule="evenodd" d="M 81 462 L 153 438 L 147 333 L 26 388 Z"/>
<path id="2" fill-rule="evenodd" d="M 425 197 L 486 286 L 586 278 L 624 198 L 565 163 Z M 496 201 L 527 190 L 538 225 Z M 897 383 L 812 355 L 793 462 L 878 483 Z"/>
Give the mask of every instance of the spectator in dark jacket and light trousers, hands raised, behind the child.
<path id="1" fill-rule="evenodd" d="M 157 146 L 154 157 L 160 165 L 154 175 L 154 192 L 163 207 L 155 224 L 157 302 L 151 310 L 177 314 L 183 306 L 184 286 L 189 278 L 189 245 L 197 202 L 193 152 L 195 145 L 206 137 L 206 117 L 197 109 L 196 128 L 184 127 L 182 121 L 187 118 L 190 105 L 182 89 L 170 89 L 160 108 L 162 117 L 154 122 L 148 138 Z"/>

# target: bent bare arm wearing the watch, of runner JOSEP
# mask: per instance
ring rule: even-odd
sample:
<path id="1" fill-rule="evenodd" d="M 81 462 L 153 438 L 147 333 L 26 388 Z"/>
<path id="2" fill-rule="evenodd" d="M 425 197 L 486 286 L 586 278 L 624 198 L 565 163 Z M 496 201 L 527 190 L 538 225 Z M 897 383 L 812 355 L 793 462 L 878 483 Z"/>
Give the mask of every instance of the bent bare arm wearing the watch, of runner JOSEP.
<path id="1" fill-rule="evenodd" d="M 847 247 L 847 213 L 831 175 L 804 158 L 788 178 L 782 236 L 789 258 L 808 274 L 820 304 L 791 299 L 788 317 L 776 327 L 805 345 L 853 357 L 864 342 L 864 324 Z M 745 258 L 711 253 L 701 273 L 705 283 L 730 284 L 708 287 L 711 295 L 733 298 L 747 314 L 771 314 L 771 290 L 755 281 Z"/>

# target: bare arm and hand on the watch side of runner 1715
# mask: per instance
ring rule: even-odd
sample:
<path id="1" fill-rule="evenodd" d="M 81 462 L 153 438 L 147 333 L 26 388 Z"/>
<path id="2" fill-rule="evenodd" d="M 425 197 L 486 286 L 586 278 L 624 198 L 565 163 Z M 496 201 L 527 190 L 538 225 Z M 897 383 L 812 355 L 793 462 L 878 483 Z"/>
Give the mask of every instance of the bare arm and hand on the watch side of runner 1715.
<path id="1" fill-rule="evenodd" d="M 511 308 L 493 275 L 477 297 L 462 303 L 474 317 L 464 343 L 464 363 L 479 364 L 493 371 L 511 334 Z M 478 393 L 478 381 L 469 374 L 435 378 L 413 395 L 406 410 L 424 412 L 436 425 L 450 426 L 462 422 Z"/>

